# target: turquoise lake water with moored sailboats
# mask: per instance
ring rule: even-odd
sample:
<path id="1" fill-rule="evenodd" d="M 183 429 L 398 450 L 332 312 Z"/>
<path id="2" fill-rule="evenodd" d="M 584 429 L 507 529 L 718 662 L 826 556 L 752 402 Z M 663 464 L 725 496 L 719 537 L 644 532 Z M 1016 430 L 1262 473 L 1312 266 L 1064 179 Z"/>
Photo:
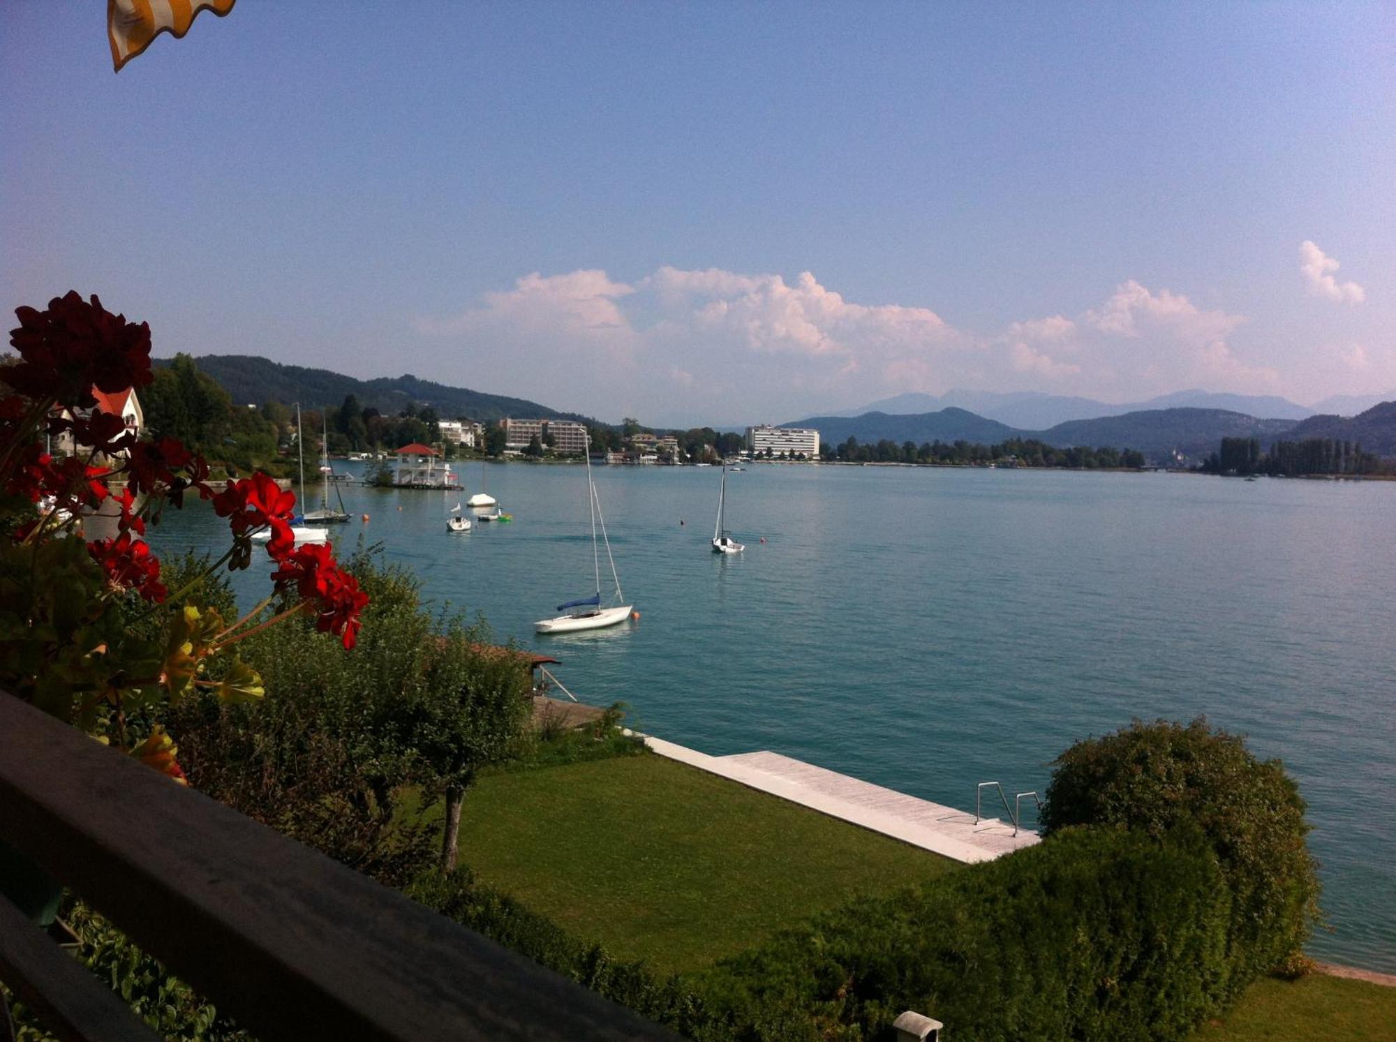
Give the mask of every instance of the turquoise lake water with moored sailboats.
<path id="1" fill-rule="evenodd" d="M 343 489 L 336 535 L 383 541 L 637 726 L 953 806 L 979 781 L 1041 791 L 1061 749 L 1134 717 L 1206 714 L 1300 781 L 1333 927 L 1312 953 L 1396 972 L 1396 483 L 757 465 L 727 478 L 747 552 L 726 557 L 719 471 L 595 474 L 641 612 L 614 630 L 532 633 L 591 592 L 579 467 L 491 465 L 517 520 L 468 535 L 438 493 Z M 200 504 L 156 543 L 222 531 Z"/>

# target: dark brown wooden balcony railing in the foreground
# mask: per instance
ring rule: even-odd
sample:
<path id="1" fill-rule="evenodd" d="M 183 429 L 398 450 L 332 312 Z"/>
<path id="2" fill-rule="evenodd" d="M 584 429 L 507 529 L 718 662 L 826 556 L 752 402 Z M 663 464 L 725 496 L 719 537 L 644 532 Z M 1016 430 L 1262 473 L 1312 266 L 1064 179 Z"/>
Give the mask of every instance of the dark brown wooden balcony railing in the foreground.
<path id="1" fill-rule="evenodd" d="M 262 1039 L 676 1038 L 4 693 L 0 839 Z M 60 1038 L 152 1038 L 4 898 L 0 979 Z"/>

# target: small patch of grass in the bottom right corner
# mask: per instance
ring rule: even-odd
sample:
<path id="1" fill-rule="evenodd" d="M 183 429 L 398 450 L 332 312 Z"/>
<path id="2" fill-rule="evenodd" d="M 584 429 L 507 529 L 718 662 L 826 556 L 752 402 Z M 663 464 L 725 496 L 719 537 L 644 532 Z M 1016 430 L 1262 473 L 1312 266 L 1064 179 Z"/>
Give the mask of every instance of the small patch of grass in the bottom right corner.
<path id="1" fill-rule="evenodd" d="M 1396 988 L 1305 976 L 1258 981 L 1222 1021 L 1205 1025 L 1196 1042 L 1392 1042 L 1396 1039 Z"/>

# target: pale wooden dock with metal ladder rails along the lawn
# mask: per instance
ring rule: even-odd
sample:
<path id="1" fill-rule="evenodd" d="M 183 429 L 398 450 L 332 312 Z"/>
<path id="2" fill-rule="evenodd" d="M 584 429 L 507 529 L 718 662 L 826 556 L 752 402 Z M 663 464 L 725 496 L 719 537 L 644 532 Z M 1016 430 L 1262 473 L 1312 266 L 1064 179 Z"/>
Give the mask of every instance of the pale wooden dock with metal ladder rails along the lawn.
<path id="1" fill-rule="evenodd" d="M 976 823 L 970 812 L 907 796 L 779 753 L 708 756 L 648 736 L 645 744 L 659 756 L 958 862 L 993 860 L 1040 842 L 1030 828 L 1019 828 L 1013 835 L 1012 821 L 987 817 Z"/>

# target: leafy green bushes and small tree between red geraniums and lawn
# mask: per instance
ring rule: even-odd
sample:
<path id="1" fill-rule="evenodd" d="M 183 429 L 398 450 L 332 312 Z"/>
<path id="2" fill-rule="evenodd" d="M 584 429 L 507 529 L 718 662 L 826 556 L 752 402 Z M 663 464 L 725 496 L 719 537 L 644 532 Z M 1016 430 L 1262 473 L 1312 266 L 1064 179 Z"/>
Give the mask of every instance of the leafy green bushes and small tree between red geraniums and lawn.
<path id="1" fill-rule="evenodd" d="M 239 645 L 261 676 L 260 704 L 186 698 L 169 728 L 194 788 L 401 886 L 433 845 L 429 825 L 398 813 L 403 792 L 463 789 L 512 751 L 528 668 L 487 647 L 483 627 L 433 617 L 416 577 L 376 550 L 349 567 L 370 596 L 350 654 L 307 616 L 288 619 Z M 223 687 L 244 683 L 237 670 L 218 677 Z"/>

